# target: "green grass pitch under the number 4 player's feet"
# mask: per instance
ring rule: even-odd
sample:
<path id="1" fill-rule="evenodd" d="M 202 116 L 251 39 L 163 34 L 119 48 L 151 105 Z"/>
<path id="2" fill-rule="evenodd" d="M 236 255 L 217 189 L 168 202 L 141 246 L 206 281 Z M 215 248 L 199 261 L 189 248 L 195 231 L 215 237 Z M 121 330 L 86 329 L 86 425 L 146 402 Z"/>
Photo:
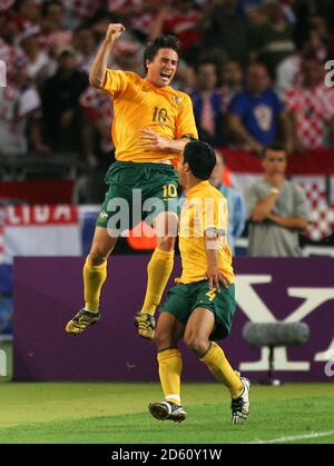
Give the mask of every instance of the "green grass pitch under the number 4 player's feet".
<path id="1" fill-rule="evenodd" d="M 147 405 L 159 384 L 11 383 L 0 378 L 0 444 L 334 444 L 334 384 L 253 384 L 250 415 L 230 424 L 229 396 L 219 385 L 183 385 L 183 424 L 159 422 Z"/>

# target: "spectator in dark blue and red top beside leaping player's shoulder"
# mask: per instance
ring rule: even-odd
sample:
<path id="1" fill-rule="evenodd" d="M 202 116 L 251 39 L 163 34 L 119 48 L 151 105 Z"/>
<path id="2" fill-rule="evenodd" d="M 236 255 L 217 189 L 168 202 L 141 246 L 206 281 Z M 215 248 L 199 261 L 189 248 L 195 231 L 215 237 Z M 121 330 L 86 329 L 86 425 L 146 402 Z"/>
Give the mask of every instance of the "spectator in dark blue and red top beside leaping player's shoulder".
<path id="1" fill-rule="evenodd" d="M 222 143 L 222 97 L 217 91 L 217 69 L 213 61 L 202 61 L 196 73 L 197 90 L 191 95 L 199 139 Z"/>

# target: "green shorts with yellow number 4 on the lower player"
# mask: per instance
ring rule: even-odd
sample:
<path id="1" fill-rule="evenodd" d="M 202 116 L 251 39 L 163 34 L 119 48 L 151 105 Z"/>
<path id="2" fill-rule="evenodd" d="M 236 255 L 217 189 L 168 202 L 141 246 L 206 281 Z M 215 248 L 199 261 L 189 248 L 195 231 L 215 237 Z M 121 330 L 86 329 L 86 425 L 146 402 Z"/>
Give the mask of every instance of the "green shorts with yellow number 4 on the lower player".
<path id="1" fill-rule="evenodd" d="M 179 284 L 168 291 L 160 311 L 171 314 L 186 326 L 193 310 L 197 307 L 204 307 L 215 315 L 215 328 L 210 340 L 226 338 L 230 333 L 232 319 L 236 310 L 234 284 L 229 285 L 228 289 L 220 284 L 218 293 L 209 288 L 207 280 Z"/>

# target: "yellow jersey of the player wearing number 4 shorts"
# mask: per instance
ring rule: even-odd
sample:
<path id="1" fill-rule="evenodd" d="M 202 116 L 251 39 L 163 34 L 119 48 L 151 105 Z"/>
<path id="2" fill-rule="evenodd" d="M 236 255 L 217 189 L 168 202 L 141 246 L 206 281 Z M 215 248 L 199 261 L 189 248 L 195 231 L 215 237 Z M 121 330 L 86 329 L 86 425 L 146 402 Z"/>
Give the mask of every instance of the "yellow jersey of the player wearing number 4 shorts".
<path id="1" fill-rule="evenodd" d="M 229 282 L 234 282 L 232 254 L 227 244 L 227 200 L 208 181 L 200 181 L 188 190 L 181 209 L 179 250 L 183 274 L 178 282 L 190 284 L 207 278 L 205 231 L 210 228 L 220 234 L 218 268 Z"/>

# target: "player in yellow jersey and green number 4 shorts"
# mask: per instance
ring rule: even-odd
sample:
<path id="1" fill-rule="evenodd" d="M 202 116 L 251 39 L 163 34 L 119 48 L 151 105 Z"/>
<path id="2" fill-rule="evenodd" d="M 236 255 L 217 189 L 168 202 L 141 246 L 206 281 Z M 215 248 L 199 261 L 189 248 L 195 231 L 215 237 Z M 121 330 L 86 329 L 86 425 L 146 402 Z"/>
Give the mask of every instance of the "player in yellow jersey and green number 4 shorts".
<path id="1" fill-rule="evenodd" d="M 178 165 L 179 182 L 187 189 L 179 224 L 183 272 L 160 308 L 155 335 L 165 400 L 148 407 L 160 420 L 186 418 L 180 403 L 180 338 L 228 388 L 233 424 L 242 424 L 249 412 L 249 380 L 230 367 L 215 343 L 227 337 L 235 313 L 227 201 L 208 181 L 215 163 L 210 146 L 191 141 Z"/>

